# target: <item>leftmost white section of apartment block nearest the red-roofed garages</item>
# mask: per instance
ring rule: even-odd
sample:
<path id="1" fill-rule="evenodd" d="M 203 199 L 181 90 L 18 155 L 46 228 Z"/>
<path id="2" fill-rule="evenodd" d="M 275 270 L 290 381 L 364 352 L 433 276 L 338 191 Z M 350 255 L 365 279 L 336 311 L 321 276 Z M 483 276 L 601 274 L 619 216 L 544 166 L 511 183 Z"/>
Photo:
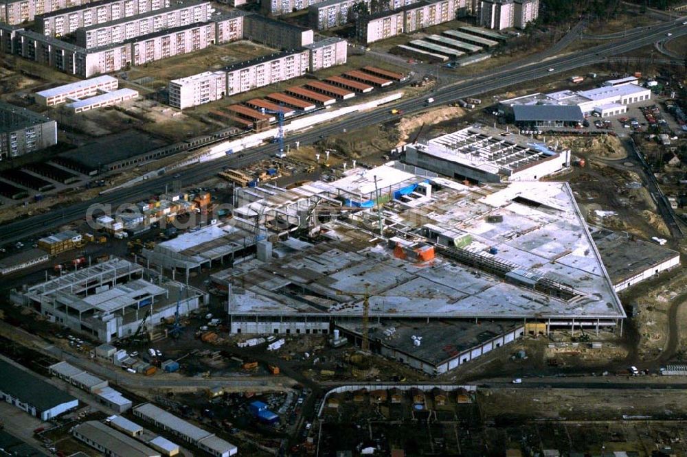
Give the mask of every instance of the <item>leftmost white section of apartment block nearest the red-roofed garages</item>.
<path id="1" fill-rule="evenodd" d="M 227 73 L 205 71 L 188 78 L 172 80 L 168 89 L 170 106 L 181 110 L 214 102 L 227 93 Z"/>

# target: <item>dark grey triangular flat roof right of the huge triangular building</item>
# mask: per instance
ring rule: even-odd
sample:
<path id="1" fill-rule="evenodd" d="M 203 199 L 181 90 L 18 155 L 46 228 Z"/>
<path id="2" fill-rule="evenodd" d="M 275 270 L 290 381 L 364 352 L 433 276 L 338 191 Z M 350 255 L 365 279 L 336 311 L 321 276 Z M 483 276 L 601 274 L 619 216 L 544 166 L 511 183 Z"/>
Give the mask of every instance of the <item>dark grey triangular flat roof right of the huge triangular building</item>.
<path id="1" fill-rule="evenodd" d="M 627 233 L 594 227 L 591 229 L 596 247 L 613 284 L 679 257 L 675 250 L 632 238 Z"/>

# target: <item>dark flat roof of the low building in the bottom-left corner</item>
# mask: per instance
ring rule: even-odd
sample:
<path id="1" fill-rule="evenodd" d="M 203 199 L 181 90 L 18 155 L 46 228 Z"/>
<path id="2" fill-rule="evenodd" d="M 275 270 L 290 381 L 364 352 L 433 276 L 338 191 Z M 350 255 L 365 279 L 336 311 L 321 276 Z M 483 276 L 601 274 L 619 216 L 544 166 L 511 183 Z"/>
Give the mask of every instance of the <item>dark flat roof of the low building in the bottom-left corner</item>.
<path id="1" fill-rule="evenodd" d="M 9 362 L 0 360 L 0 390 L 40 411 L 76 400 L 67 392 L 23 371 Z"/>

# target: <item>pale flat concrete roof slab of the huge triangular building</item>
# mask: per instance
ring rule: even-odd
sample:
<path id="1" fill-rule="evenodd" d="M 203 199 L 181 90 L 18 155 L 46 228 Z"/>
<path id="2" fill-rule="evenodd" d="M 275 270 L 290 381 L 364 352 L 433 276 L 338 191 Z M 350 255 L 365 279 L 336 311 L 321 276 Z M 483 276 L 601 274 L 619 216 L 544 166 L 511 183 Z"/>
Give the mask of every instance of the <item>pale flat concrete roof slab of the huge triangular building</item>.
<path id="1" fill-rule="evenodd" d="M 384 179 L 383 169 L 364 173 Z M 433 188 L 429 197 L 413 191 L 383 204 L 385 224 L 402 237 L 374 235 L 374 206 L 351 213 L 346 224 L 323 224 L 322 233 L 333 241 L 267 264 L 235 266 L 232 281 L 245 292 L 235 291 L 233 314 L 359 316 L 361 298 L 345 292 L 369 284 L 370 316 L 624 318 L 567 183 L 469 187 L 400 173 L 414 180 L 390 176 L 388 183 L 407 187 L 429 180 Z M 353 170 L 343 180 L 308 188 L 330 196 L 349 185 L 367 191 L 369 180 L 357 179 Z M 390 189 L 384 195 L 396 187 Z M 436 244 L 436 256 L 431 263 L 398 257 L 392 243 L 398 240 Z M 300 291 L 298 299 L 288 292 L 292 288 Z"/>

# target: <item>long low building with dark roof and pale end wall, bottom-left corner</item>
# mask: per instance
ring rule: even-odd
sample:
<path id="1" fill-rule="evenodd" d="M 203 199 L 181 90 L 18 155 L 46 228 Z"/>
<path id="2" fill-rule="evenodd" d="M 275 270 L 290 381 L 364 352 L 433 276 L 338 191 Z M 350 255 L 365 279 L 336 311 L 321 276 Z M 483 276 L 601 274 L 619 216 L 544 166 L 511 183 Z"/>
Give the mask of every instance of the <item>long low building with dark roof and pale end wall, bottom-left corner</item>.
<path id="1" fill-rule="evenodd" d="M 79 401 L 36 375 L 0 360 L 0 400 L 42 421 L 79 406 Z"/>

